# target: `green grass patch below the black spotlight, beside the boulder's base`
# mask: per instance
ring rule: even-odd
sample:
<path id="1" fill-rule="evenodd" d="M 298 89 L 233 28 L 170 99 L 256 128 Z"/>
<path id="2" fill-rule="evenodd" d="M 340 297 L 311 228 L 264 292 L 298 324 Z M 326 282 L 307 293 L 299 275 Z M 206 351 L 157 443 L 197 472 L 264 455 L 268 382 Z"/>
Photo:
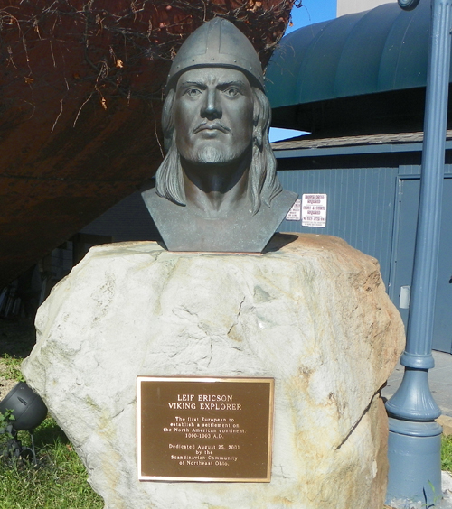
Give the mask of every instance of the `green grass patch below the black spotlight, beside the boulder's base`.
<path id="1" fill-rule="evenodd" d="M 33 436 L 36 466 L 0 461 L 0 509 L 101 509 L 103 501 L 89 486 L 85 467 L 52 418 Z M 19 431 L 19 439 L 30 444 L 28 432 Z"/>

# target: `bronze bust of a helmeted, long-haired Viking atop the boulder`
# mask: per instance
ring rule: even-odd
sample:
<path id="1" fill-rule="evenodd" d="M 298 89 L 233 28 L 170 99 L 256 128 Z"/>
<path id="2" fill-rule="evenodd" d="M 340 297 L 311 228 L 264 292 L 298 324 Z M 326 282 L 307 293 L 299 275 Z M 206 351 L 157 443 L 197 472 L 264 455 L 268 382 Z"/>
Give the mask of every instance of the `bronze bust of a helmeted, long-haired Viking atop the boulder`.
<path id="1" fill-rule="evenodd" d="M 166 94 L 167 153 L 143 199 L 167 249 L 260 253 L 297 195 L 276 174 L 257 52 L 214 18 L 182 45 Z"/>

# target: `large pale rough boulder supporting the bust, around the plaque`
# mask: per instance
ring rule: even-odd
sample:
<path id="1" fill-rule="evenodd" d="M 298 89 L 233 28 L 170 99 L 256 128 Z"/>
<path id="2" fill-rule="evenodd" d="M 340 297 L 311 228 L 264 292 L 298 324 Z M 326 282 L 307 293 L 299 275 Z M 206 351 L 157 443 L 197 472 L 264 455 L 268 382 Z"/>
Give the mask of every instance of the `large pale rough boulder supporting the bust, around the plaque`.
<path id="1" fill-rule="evenodd" d="M 381 509 L 380 389 L 404 342 L 377 261 L 331 236 L 264 254 L 104 245 L 53 290 L 23 365 L 108 509 Z M 137 481 L 137 375 L 270 376 L 271 482 Z"/>

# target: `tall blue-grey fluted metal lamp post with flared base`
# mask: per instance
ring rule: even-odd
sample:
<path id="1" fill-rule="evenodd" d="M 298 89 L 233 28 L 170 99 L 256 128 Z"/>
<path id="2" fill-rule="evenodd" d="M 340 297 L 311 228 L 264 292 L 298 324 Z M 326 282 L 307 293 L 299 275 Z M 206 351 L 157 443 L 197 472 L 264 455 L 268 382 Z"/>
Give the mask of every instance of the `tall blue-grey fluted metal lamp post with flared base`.
<path id="1" fill-rule="evenodd" d="M 399 0 L 411 10 L 419 0 Z M 390 472 L 386 501 L 405 508 L 408 502 L 438 504 L 441 498 L 441 411 L 428 387 L 435 295 L 438 277 L 439 229 L 443 195 L 447 95 L 450 67 L 452 0 L 431 0 L 424 144 L 420 175 L 418 233 L 414 256 L 405 366 L 400 388 L 386 403 L 390 416 Z"/>

